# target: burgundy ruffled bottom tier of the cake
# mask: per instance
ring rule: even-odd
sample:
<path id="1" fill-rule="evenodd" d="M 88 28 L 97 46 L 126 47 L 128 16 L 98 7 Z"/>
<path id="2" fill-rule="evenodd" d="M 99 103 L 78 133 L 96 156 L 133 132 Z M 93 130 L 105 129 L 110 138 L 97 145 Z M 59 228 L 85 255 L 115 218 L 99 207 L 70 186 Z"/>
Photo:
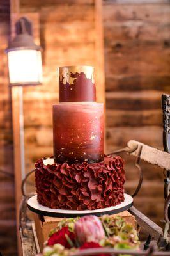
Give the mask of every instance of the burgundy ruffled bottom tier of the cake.
<path id="1" fill-rule="evenodd" d="M 94 210 L 124 201 L 125 170 L 120 156 L 95 164 L 35 164 L 38 202 L 53 209 Z"/>

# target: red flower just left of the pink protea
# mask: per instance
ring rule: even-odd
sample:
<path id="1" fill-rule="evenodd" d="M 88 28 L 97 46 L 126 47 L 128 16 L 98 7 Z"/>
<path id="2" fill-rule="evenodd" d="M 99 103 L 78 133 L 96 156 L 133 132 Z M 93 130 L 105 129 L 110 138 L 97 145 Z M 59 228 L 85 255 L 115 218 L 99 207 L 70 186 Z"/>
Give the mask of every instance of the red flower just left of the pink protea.
<path id="1" fill-rule="evenodd" d="M 62 244 L 63 246 L 65 246 L 65 248 L 71 248 L 65 235 L 67 235 L 70 238 L 70 240 L 74 243 L 75 241 L 74 233 L 70 232 L 68 230 L 68 227 L 63 227 L 61 228 L 61 230 L 59 230 L 58 232 L 50 236 L 47 242 L 47 245 Z"/>

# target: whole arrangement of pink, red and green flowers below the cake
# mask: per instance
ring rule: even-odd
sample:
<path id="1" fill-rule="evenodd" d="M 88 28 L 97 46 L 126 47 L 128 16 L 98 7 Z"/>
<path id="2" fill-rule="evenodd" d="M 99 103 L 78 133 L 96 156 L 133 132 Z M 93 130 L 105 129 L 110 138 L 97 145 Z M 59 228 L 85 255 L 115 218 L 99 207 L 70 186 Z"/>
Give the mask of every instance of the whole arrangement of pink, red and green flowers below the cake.
<path id="1" fill-rule="evenodd" d="M 49 234 L 43 256 L 68 256 L 87 248 L 138 249 L 137 231 L 120 216 L 63 219 Z M 98 256 L 109 256 L 100 254 Z"/>

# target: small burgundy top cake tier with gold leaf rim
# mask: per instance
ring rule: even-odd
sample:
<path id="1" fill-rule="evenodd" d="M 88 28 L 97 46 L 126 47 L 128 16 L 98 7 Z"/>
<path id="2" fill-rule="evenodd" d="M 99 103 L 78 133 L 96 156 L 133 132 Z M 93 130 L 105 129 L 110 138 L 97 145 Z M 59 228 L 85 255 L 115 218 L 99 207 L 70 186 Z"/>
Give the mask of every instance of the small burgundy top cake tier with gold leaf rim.
<path id="1" fill-rule="evenodd" d="M 59 67 L 59 102 L 93 101 L 96 101 L 94 67 Z"/>

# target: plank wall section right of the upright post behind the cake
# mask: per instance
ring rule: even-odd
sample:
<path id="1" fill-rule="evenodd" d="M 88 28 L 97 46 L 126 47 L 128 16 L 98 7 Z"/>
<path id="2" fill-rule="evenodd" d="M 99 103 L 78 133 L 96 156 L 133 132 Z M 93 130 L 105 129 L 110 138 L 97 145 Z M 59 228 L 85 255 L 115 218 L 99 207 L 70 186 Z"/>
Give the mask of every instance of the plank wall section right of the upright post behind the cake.
<path id="1" fill-rule="evenodd" d="M 170 6 L 168 1 L 104 1 L 107 150 L 135 139 L 162 149 L 161 95 L 170 93 Z M 127 160 L 126 189 L 137 184 Z M 161 225 L 162 170 L 142 163 L 143 189 L 135 206 Z"/>

